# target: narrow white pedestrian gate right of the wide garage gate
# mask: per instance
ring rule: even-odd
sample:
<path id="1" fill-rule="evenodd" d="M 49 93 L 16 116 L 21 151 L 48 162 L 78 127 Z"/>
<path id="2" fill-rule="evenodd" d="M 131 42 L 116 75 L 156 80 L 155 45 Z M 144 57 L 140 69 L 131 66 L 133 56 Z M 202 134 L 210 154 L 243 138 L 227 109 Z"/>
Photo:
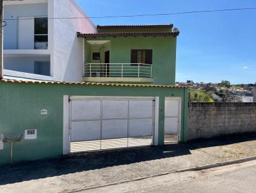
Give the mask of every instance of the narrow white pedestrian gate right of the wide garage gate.
<path id="1" fill-rule="evenodd" d="M 178 143 L 180 130 L 180 98 L 166 97 L 164 105 L 164 144 Z"/>

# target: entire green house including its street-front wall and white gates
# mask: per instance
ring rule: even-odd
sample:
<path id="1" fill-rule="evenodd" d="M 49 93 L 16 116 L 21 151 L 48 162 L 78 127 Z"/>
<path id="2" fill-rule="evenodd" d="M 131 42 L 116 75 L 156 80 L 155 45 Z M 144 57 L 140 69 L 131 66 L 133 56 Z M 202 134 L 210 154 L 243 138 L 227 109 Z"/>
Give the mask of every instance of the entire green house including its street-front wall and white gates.
<path id="1" fill-rule="evenodd" d="M 179 30 L 97 26 L 84 43 L 83 82 L 0 81 L 0 164 L 186 142 L 188 89 L 175 86 Z M 81 73 L 82 74 L 82 73 Z"/>

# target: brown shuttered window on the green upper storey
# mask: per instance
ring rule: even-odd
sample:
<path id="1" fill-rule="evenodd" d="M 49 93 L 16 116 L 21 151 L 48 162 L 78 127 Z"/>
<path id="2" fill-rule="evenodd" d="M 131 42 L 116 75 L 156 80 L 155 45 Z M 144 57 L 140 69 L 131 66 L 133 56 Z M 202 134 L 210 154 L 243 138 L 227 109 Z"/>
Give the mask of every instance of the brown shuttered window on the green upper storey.
<path id="1" fill-rule="evenodd" d="M 152 65 L 153 50 L 131 50 L 131 63 Z"/>

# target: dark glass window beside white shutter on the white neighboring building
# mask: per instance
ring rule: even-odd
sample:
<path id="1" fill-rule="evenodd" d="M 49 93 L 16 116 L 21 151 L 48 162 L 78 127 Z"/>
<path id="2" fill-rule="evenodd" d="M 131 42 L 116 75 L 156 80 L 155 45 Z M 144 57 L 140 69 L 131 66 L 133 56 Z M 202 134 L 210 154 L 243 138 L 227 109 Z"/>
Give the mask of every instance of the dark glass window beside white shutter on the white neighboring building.
<path id="1" fill-rule="evenodd" d="M 48 48 L 48 19 L 35 18 L 35 49 Z"/>

